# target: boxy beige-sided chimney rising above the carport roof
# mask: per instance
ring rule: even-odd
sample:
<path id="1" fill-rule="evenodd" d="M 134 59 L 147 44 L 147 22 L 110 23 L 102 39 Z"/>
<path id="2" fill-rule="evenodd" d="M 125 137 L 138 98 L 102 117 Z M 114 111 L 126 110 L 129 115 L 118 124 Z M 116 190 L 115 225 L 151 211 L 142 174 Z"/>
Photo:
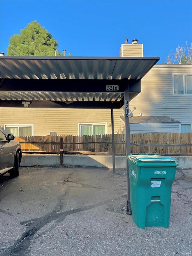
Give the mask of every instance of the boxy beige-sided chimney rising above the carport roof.
<path id="1" fill-rule="evenodd" d="M 122 44 L 120 57 L 143 57 L 143 44 Z"/>

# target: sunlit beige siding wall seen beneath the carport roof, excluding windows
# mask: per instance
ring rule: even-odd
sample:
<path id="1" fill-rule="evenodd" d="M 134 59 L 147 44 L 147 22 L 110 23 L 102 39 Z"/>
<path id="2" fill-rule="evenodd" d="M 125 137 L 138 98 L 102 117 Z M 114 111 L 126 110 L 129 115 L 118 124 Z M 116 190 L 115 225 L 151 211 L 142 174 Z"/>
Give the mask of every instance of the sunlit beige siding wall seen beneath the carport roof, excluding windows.
<path id="1" fill-rule="evenodd" d="M 123 110 L 114 110 L 114 130 L 120 132 Z M 46 109 L 0 108 L 1 126 L 5 124 L 34 124 L 34 136 L 79 135 L 78 123 L 107 122 L 107 134 L 111 133 L 111 110 L 104 109 Z"/>

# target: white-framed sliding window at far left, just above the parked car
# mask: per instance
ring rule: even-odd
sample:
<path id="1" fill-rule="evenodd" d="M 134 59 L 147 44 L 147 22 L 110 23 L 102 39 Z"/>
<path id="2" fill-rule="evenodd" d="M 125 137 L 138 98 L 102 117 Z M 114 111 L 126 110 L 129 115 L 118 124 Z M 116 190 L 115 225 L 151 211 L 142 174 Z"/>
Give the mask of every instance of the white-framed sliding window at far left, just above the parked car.
<path id="1" fill-rule="evenodd" d="M 15 137 L 33 136 L 33 124 L 7 124 L 4 125 L 6 134 L 13 134 Z"/>

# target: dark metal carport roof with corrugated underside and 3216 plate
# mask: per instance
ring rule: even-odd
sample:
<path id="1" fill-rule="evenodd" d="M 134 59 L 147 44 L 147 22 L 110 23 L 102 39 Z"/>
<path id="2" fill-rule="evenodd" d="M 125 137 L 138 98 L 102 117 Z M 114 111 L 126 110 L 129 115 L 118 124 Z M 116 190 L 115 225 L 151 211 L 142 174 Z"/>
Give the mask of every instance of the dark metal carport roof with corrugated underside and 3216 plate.
<path id="1" fill-rule="evenodd" d="M 125 88 L 134 98 L 159 59 L 1 56 L 1 107 L 120 108 Z"/>

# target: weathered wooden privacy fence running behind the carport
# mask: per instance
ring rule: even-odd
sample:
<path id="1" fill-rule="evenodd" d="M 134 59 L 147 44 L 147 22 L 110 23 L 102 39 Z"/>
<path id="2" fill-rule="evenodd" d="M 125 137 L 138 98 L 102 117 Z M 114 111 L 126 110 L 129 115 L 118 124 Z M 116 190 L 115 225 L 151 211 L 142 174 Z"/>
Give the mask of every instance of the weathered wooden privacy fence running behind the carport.
<path id="1" fill-rule="evenodd" d="M 125 134 L 115 134 L 115 154 L 126 155 Z M 112 154 L 112 134 L 16 137 L 23 154 Z M 192 133 L 130 134 L 132 153 L 192 154 Z"/>

